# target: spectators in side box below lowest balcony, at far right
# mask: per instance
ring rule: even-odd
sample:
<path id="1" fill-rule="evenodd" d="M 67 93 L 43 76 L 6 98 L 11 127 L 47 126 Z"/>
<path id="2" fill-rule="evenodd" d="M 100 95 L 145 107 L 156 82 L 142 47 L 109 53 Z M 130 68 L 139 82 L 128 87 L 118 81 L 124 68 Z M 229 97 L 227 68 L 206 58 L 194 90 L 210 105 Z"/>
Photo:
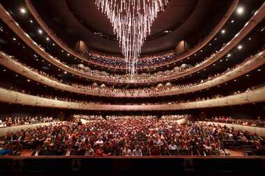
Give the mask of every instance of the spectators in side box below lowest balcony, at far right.
<path id="1" fill-rule="evenodd" d="M 253 127 L 265 127 L 265 119 L 258 117 L 257 120 L 247 118 L 234 118 L 231 116 L 215 116 L 212 118 L 206 118 L 205 121 L 222 122 L 237 125 L 248 125 Z"/>

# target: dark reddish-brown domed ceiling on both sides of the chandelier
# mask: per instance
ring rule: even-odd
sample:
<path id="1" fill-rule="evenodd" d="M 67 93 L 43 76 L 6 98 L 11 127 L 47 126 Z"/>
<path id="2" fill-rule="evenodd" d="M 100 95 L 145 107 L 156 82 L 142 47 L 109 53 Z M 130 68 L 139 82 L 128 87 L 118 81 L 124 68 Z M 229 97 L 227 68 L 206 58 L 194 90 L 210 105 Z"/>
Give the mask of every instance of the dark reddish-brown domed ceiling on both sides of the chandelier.
<path id="1" fill-rule="evenodd" d="M 179 41 L 199 35 L 198 31 L 204 31 L 206 24 L 218 23 L 231 2 L 171 0 L 153 23 L 142 54 L 169 51 Z M 96 8 L 93 0 L 37 0 L 32 3 L 45 22 L 70 45 L 74 46 L 80 39 L 93 51 L 121 54 L 112 24 Z"/>

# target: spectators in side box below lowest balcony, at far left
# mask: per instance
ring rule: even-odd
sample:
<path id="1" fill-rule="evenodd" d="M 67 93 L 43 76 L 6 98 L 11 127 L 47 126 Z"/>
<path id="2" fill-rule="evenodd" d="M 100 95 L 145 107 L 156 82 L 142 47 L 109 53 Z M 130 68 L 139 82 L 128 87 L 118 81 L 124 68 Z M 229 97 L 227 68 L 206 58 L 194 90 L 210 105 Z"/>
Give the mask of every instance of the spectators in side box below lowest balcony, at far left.
<path id="1" fill-rule="evenodd" d="M 0 120 L 0 127 L 11 127 L 16 125 L 29 125 L 35 123 L 44 123 L 44 122 L 56 122 L 58 119 L 54 119 L 52 116 L 46 117 L 7 117 Z"/>

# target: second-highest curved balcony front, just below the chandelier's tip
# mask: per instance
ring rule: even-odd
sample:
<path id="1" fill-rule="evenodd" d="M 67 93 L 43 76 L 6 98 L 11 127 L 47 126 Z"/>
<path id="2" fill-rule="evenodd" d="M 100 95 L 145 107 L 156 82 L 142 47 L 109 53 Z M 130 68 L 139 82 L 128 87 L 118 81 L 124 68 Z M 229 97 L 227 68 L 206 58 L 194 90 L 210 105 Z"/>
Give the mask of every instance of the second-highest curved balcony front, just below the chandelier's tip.
<path id="1" fill-rule="evenodd" d="M 40 56 L 42 56 L 45 60 L 49 61 L 50 63 L 56 65 L 57 67 L 60 67 L 62 70 L 65 70 L 67 72 L 70 72 L 72 74 L 76 74 L 79 77 L 84 77 L 91 80 L 97 80 L 97 81 L 103 81 L 108 83 L 156 83 L 160 81 L 169 81 L 169 80 L 176 80 L 180 77 L 185 77 L 189 74 L 192 74 L 194 72 L 197 72 L 199 70 L 204 69 L 205 67 L 208 67 L 209 65 L 215 63 L 215 61 L 218 61 L 222 56 L 225 56 L 227 52 L 235 47 L 244 37 L 245 35 L 248 35 L 254 27 L 262 21 L 262 19 L 265 16 L 265 3 L 262 4 L 262 7 L 259 8 L 259 10 L 256 11 L 256 13 L 251 17 L 251 19 L 245 24 L 243 29 L 237 33 L 234 38 L 227 43 L 220 51 L 218 51 L 216 54 L 211 56 L 210 58 L 207 58 L 204 62 L 202 62 L 200 65 L 197 65 L 196 67 L 192 67 L 190 70 L 186 70 L 184 72 L 181 72 L 179 74 L 172 74 L 166 77 L 159 77 L 156 79 L 134 79 L 134 80 L 119 80 L 119 79 L 110 79 L 106 77 L 95 77 L 88 74 L 84 74 L 82 72 L 79 72 L 78 70 L 73 69 L 72 67 L 69 67 L 68 65 L 65 65 L 61 63 L 61 61 L 57 60 L 56 58 L 52 57 L 50 54 L 48 54 L 43 48 L 40 48 L 36 42 L 34 42 L 27 33 L 25 33 L 15 22 L 15 20 L 8 14 L 8 12 L 3 8 L 3 6 L 0 6 L 0 17 L 3 19 L 6 24 L 12 29 L 24 42 L 31 47 L 34 51 L 36 51 Z"/>

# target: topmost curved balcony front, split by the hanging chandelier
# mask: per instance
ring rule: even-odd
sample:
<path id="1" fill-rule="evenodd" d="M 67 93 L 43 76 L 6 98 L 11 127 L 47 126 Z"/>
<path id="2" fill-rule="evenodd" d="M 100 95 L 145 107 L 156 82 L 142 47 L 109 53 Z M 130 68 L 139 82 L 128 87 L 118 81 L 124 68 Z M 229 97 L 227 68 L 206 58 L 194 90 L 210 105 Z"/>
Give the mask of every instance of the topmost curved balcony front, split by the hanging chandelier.
<path id="1" fill-rule="evenodd" d="M 77 51 L 71 49 L 70 47 L 68 47 L 68 45 L 66 45 L 66 43 L 64 43 L 60 38 L 58 38 L 56 33 L 54 33 L 54 31 L 52 31 L 49 28 L 49 26 L 43 21 L 43 19 L 40 17 L 40 15 L 38 14 L 36 9 L 34 8 L 34 6 L 31 3 L 31 1 L 30 0 L 25 0 L 25 3 L 27 5 L 27 8 L 29 9 L 29 12 L 31 13 L 31 15 L 33 15 L 33 17 L 36 19 L 38 24 L 43 28 L 43 30 L 47 33 L 47 35 L 49 35 L 50 38 L 52 38 L 52 40 L 54 40 L 54 42 L 56 42 L 62 49 L 68 51 L 68 53 L 70 53 L 73 56 L 81 59 L 82 61 L 87 61 L 87 62 L 92 63 L 94 65 L 99 65 L 101 67 L 109 67 L 109 68 L 117 69 L 117 70 L 126 69 L 124 67 L 115 67 L 114 65 L 106 65 L 106 64 L 103 64 L 103 63 L 100 63 L 100 62 L 89 60 L 89 58 L 84 57 L 81 54 L 79 54 Z M 225 13 L 224 17 L 222 17 L 222 19 L 215 26 L 213 31 L 211 31 L 211 33 L 209 33 L 209 35 L 206 38 L 204 38 L 204 40 L 202 40 L 202 42 L 200 42 L 198 45 L 196 45 L 192 49 L 190 49 L 190 50 L 186 51 L 185 53 L 181 54 L 181 56 L 176 56 L 173 61 L 166 62 L 166 63 L 160 63 L 160 64 L 157 64 L 157 65 L 153 65 L 152 67 L 138 67 L 138 69 L 141 69 L 141 70 L 142 69 L 150 69 L 150 68 L 153 69 L 155 67 L 161 67 L 161 66 L 169 65 L 169 64 L 174 63 L 176 61 L 181 61 L 183 58 L 191 56 L 192 54 L 195 54 L 195 52 L 199 51 L 199 49 L 202 49 L 202 47 L 204 47 L 210 40 L 212 40 L 213 37 L 220 31 L 220 29 L 222 29 L 222 26 L 225 25 L 225 23 L 227 22 L 229 17 L 231 17 L 231 15 L 234 13 L 234 10 L 238 6 L 238 4 L 239 4 L 239 0 L 234 0 L 233 3 L 231 4 L 231 6 L 229 7 L 229 9 L 227 10 L 227 12 Z"/>

